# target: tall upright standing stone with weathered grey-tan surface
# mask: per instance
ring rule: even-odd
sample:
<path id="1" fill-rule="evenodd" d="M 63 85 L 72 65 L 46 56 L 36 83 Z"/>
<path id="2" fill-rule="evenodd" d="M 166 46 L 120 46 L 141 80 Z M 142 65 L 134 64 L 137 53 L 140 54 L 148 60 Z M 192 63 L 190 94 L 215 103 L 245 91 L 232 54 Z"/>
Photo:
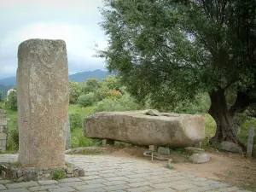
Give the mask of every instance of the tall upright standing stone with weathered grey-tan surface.
<path id="1" fill-rule="evenodd" d="M 65 42 L 30 39 L 21 43 L 17 70 L 21 166 L 65 165 L 68 95 Z"/>

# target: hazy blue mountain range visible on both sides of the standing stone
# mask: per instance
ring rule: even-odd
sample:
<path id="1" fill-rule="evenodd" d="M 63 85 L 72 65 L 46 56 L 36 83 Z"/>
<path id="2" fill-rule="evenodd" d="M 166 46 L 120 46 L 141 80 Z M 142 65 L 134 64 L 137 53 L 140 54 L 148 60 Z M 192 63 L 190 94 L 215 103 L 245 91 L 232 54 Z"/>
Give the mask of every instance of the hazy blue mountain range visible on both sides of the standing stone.
<path id="1" fill-rule="evenodd" d="M 82 72 L 82 73 L 75 73 L 73 75 L 69 75 L 70 81 L 75 82 L 85 82 L 87 79 L 93 78 L 93 79 L 105 79 L 110 75 L 110 73 L 106 71 L 102 71 L 100 69 L 96 69 L 95 71 L 88 71 L 88 72 Z M 16 84 L 16 77 L 10 77 L 6 79 L 0 79 L 0 90 L 3 90 L 3 96 L 5 97 L 7 94 L 7 91 L 13 87 L 15 87 Z"/>

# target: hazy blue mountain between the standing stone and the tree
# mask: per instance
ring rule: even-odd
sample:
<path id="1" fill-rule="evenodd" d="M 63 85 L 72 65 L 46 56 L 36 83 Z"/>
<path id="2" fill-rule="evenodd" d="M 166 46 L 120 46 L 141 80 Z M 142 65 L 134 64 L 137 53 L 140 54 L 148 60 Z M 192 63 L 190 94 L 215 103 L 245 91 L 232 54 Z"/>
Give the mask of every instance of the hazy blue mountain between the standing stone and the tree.
<path id="1" fill-rule="evenodd" d="M 70 81 L 75 81 L 75 82 L 85 82 L 87 79 L 106 79 L 110 75 L 110 73 L 106 71 L 102 71 L 100 69 L 96 69 L 95 71 L 92 72 L 82 72 L 82 73 L 75 73 L 73 75 L 69 75 L 69 80 Z"/>

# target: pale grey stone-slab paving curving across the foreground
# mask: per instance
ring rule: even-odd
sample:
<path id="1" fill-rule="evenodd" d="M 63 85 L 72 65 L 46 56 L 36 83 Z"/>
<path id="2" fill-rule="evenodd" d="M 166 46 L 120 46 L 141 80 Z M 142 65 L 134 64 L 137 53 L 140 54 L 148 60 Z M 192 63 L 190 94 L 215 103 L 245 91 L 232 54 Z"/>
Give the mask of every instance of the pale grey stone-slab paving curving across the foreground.
<path id="1" fill-rule="evenodd" d="M 15 160 L 17 160 L 16 154 L 0 155 L 0 162 L 13 162 Z M 132 160 L 105 155 L 66 155 L 66 160 L 84 168 L 85 177 L 23 183 L 9 183 L 9 181 L 2 179 L 0 180 L 0 191 L 247 191 L 207 178 L 173 171 L 146 160 Z"/>

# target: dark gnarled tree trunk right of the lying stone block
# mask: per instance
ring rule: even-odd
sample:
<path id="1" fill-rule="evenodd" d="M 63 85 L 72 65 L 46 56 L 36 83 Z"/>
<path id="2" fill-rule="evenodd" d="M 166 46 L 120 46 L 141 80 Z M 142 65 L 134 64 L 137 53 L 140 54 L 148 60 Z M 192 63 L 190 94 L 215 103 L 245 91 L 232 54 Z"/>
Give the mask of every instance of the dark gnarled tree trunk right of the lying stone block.
<path id="1" fill-rule="evenodd" d="M 234 116 L 229 112 L 227 102 L 224 95 L 224 89 L 219 88 L 217 91 L 210 93 L 211 107 L 209 114 L 215 120 L 217 130 L 213 141 L 223 142 L 229 141 L 238 144 L 244 150 L 245 145 L 237 138 L 236 126 L 234 124 Z"/>

